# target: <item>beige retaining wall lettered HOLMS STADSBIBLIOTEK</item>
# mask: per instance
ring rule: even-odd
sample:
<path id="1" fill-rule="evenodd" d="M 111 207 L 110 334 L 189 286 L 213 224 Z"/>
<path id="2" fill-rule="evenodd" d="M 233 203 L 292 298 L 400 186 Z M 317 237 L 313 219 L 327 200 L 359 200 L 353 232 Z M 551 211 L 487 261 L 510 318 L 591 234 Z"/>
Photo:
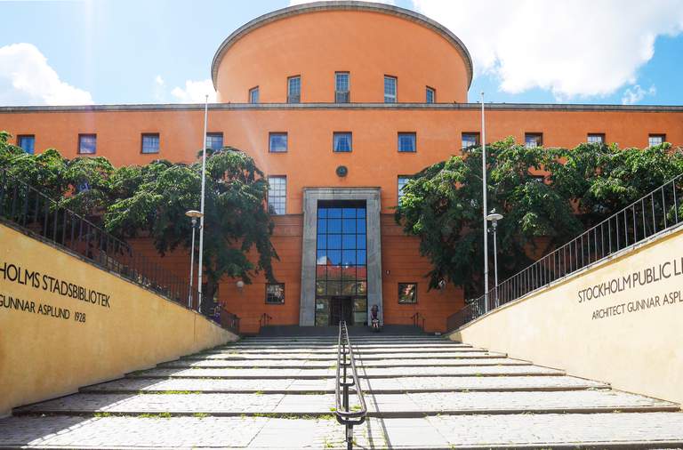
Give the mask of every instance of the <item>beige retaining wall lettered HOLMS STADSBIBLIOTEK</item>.
<path id="1" fill-rule="evenodd" d="M 81 288 L 88 301 L 77 298 Z M 0 224 L 0 416 L 236 340 L 196 312 Z"/>

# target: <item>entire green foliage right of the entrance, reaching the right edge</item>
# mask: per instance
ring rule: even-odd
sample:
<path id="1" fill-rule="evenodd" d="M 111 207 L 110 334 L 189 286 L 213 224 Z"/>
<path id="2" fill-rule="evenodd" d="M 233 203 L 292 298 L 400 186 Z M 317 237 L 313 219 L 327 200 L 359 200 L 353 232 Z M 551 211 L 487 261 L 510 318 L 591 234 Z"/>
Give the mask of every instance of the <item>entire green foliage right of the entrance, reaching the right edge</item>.
<path id="1" fill-rule="evenodd" d="M 486 150 L 487 206 L 504 215 L 498 225 L 501 281 L 525 268 L 532 256 L 549 252 L 683 172 L 683 156 L 669 144 L 526 149 L 508 139 Z M 421 253 L 432 262 L 430 287 L 446 280 L 464 287 L 467 296 L 483 292 L 481 148 L 416 173 L 403 190 L 395 219 L 407 234 L 420 238 Z M 493 278 L 493 267 L 490 273 Z"/>

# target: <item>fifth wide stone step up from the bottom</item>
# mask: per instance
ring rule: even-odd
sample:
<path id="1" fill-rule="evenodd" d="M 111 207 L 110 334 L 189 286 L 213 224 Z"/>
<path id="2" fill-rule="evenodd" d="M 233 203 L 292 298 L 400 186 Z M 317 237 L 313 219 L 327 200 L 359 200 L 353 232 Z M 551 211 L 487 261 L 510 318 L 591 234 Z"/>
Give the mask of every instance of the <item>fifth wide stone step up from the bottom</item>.
<path id="1" fill-rule="evenodd" d="M 483 357 L 483 358 L 452 358 L 452 359 L 376 359 L 363 360 L 363 367 L 452 367 L 452 366 L 525 366 L 530 364 L 528 361 L 511 359 L 504 357 Z M 336 366 L 336 360 L 315 361 L 315 360 L 289 360 L 289 359 L 179 359 L 168 363 L 160 364 L 159 367 L 263 367 L 263 368 L 325 368 Z"/>

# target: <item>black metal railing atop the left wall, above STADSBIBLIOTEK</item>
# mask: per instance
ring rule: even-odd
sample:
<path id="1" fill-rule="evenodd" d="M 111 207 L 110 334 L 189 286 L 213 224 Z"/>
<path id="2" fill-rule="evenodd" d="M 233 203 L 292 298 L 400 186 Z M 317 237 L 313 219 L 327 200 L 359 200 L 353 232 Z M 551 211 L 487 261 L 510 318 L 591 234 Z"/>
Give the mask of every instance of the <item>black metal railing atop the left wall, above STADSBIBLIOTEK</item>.
<path id="1" fill-rule="evenodd" d="M 80 254 L 95 266 L 117 273 L 186 308 L 198 307 L 199 294 L 189 289 L 188 280 L 182 280 L 134 252 L 131 245 L 2 168 L 0 218 L 29 236 L 40 237 L 71 253 Z"/>

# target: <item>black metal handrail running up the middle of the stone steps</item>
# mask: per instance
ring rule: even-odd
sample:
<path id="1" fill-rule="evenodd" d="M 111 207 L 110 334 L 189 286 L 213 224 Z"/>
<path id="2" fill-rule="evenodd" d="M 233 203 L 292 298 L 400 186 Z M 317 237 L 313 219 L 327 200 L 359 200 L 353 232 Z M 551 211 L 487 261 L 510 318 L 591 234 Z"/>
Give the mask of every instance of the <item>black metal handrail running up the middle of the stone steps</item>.
<path id="1" fill-rule="evenodd" d="M 351 371 L 349 377 L 349 369 Z M 358 406 L 350 406 L 349 391 L 354 387 Z M 363 389 L 358 382 L 358 371 L 349 339 L 349 329 L 345 321 L 339 322 L 339 341 L 337 342 L 337 377 L 334 388 L 335 412 L 337 422 L 346 427 L 345 440 L 348 450 L 353 448 L 353 427 L 366 422 L 367 406 Z"/>

